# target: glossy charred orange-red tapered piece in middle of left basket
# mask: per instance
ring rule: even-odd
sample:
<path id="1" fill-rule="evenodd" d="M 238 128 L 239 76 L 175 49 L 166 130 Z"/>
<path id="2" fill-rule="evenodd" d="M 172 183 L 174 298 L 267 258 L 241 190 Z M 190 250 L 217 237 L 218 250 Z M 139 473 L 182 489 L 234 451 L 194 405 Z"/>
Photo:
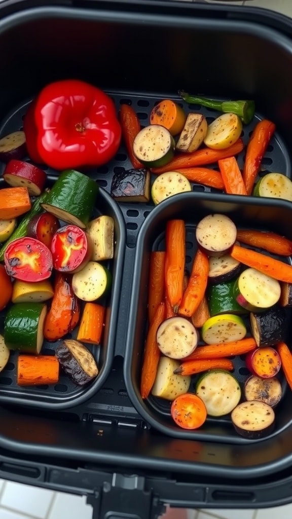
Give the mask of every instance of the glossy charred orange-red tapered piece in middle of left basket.
<path id="1" fill-rule="evenodd" d="M 72 276 L 56 273 L 54 296 L 44 322 L 47 340 L 61 339 L 77 326 L 80 303 L 72 290 Z"/>

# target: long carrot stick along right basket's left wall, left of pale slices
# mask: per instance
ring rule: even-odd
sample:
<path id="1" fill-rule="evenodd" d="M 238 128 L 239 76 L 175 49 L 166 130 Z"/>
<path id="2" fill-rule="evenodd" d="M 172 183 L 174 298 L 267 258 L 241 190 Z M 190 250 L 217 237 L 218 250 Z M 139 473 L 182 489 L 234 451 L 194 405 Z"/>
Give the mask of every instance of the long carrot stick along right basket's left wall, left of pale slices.
<path id="1" fill-rule="evenodd" d="M 155 312 L 146 337 L 141 375 L 141 397 L 147 398 L 155 381 L 160 349 L 156 342 L 158 326 L 164 321 L 165 305 L 161 303 Z"/>

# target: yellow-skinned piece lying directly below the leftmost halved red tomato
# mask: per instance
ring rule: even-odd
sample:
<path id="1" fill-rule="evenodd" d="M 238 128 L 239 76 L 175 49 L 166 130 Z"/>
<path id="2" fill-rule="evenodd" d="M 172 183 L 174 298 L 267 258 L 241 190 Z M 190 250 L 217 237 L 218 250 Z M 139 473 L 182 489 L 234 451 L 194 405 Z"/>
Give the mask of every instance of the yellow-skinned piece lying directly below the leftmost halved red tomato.
<path id="1" fill-rule="evenodd" d="M 41 303 L 48 301 L 54 295 L 49 280 L 36 281 L 34 283 L 16 279 L 13 283 L 12 303 Z"/>

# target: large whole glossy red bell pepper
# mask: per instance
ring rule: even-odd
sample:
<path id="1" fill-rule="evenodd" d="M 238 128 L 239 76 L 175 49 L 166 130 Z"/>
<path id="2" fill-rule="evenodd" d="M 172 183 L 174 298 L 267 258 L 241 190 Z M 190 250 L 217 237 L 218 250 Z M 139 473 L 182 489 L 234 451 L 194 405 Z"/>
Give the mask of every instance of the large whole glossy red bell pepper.
<path id="1" fill-rule="evenodd" d="M 56 170 L 98 167 L 116 154 L 122 130 L 111 98 L 76 79 L 39 93 L 34 111 L 37 151 Z"/>

